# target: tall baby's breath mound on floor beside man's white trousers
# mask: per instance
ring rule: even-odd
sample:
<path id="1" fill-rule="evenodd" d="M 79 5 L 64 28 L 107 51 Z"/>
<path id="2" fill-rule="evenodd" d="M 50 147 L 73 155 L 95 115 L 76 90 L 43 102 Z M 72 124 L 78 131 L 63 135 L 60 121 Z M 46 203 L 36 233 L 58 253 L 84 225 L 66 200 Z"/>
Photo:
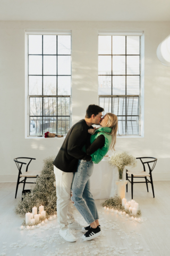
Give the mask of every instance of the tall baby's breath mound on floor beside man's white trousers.
<path id="1" fill-rule="evenodd" d="M 15 207 L 15 213 L 22 217 L 27 212 L 32 212 L 32 207 L 39 209 L 40 205 L 44 205 L 46 214 L 56 213 L 56 188 L 54 187 L 54 161 L 55 157 L 47 157 L 44 159 L 44 167 L 40 177 L 36 180 L 36 186 L 30 193 L 23 195 L 23 201 L 20 200 Z"/>

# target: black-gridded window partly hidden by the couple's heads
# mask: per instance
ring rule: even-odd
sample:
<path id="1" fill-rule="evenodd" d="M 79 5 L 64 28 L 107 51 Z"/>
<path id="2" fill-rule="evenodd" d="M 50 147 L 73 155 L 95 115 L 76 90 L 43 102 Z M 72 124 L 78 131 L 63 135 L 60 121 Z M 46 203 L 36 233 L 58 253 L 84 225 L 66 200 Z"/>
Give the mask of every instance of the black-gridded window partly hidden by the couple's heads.
<path id="1" fill-rule="evenodd" d="M 118 135 L 140 135 L 140 36 L 98 36 L 98 94 Z"/>

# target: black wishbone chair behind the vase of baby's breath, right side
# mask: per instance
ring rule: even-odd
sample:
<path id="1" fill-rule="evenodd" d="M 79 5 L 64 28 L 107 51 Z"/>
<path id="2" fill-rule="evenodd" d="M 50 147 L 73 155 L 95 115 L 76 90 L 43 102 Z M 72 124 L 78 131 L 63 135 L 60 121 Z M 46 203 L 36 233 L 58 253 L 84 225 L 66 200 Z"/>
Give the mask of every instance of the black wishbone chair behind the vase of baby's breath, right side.
<path id="1" fill-rule="evenodd" d="M 152 158 L 154 160 L 143 162 L 142 161 L 143 158 Z M 153 180 L 152 180 L 152 171 L 155 168 L 155 165 L 156 165 L 156 162 L 157 162 L 157 158 L 155 158 L 155 157 L 137 157 L 136 159 L 140 159 L 140 161 L 141 161 L 141 163 L 143 165 L 143 172 L 134 173 L 134 172 L 129 172 L 128 169 L 126 169 L 126 180 L 128 180 L 131 183 L 132 199 L 133 199 L 133 183 L 146 183 L 147 191 L 148 192 L 149 192 L 149 190 L 148 190 L 148 182 L 151 183 L 153 196 L 155 197 L 155 194 L 154 194 L 154 184 L 153 184 Z M 149 167 L 149 173 L 146 172 L 145 164 L 148 165 L 148 167 Z M 152 166 L 150 166 L 150 165 L 152 165 Z M 128 176 L 128 175 L 130 175 L 130 176 Z M 147 177 L 149 177 L 150 180 L 148 180 Z M 131 180 L 129 180 L 129 178 L 131 178 Z M 134 178 L 145 178 L 145 181 L 138 181 L 138 182 L 136 181 L 136 182 L 134 182 L 133 181 Z M 128 192 L 128 183 L 126 185 L 126 192 Z"/>

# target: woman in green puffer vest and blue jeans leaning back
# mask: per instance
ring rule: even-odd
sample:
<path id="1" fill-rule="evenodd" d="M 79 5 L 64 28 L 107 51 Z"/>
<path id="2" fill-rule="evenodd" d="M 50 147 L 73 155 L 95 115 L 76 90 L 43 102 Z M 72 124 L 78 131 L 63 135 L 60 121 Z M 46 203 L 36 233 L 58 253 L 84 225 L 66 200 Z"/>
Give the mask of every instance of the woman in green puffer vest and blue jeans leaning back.
<path id="1" fill-rule="evenodd" d="M 90 193 L 90 176 L 94 170 L 94 163 L 98 164 L 109 149 L 114 149 L 118 128 L 117 116 L 107 113 L 100 125 L 101 127 L 95 132 L 94 129 L 89 130 L 92 133 L 91 145 L 87 149 L 85 146 L 82 148 L 87 155 L 91 155 L 91 161 L 79 160 L 78 169 L 74 173 L 72 182 L 72 203 L 90 224 L 88 227 L 82 228 L 82 232 L 86 233 L 82 236 L 84 240 L 91 240 L 101 234 L 97 207 Z"/>

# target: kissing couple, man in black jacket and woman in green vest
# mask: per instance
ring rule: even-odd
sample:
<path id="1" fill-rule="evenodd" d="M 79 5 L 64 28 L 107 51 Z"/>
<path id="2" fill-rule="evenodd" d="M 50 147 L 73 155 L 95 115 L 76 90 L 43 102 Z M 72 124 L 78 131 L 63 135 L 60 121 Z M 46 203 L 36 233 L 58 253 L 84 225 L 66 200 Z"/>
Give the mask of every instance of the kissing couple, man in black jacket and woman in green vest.
<path id="1" fill-rule="evenodd" d="M 77 238 L 71 229 L 85 233 L 82 238 L 91 240 L 101 235 L 99 214 L 90 193 L 90 177 L 94 163 L 98 164 L 109 149 L 114 149 L 118 128 L 117 116 L 102 115 L 103 108 L 89 105 L 86 116 L 74 124 L 67 133 L 53 164 L 56 178 L 57 221 L 60 235 L 67 242 Z M 100 125 L 98 129 L 91 125 Z M 75 221 L 73 206 L 81 213 L 89 226 Z"/>

